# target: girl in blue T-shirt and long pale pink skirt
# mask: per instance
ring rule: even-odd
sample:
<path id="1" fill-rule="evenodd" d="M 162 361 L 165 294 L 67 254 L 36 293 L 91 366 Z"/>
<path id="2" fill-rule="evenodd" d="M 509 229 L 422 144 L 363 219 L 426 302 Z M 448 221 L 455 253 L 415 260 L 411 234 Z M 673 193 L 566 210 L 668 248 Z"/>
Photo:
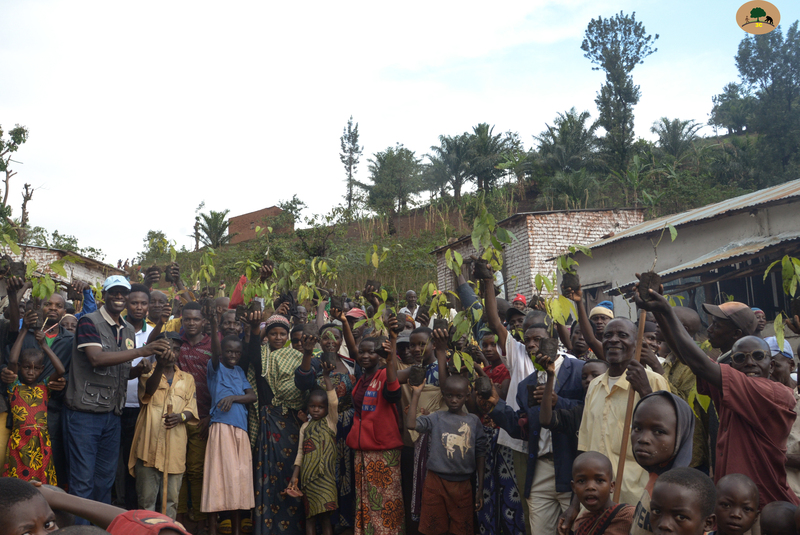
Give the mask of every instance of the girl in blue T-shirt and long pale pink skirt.
<path id="1" fill-rule="evenodd" d="M 212 336 L 208 389 L 211 393 L 211 424 L 208 430 L 200 509 L 204 513 L 212 513 L 212 535 L 217 533 L 217 513 L 231 511 L 233 534 L 239 535 L 239 511 L 247 511 L 255 506 L 253 476 L 250 472 L 253 458 L 250 437 L 247 435 L 245 405 L 253 403 L 257 398 L 247 382 L 244 370 L 238 366 L 242 358 L 242 342 L 239 337 L 226 336 L 222 342 L 217 342 L 219 336 L 213 314 L 210 323 Z"/>

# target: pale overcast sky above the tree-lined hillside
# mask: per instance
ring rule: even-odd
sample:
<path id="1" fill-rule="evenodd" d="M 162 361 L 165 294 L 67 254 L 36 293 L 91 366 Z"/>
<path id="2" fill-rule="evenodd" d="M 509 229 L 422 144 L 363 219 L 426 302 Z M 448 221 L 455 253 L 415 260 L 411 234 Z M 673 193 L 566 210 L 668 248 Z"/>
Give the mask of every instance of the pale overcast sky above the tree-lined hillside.
<path id="1" fill-rule="evenodd" d="M 796 2 L 773 2 L 784 30 Z M 737 80 L 739 2 L 82 2 L 0 0 L 0 124 L 30 138 L 10 201 L 31 223 L 133 257 L 150 229 L 191 246 L 194 211 L 238 215 L 297 194 L 342 202 L 350 115 L 366 160 L 424 154 L 480 122 L 526 146 L 557 112 L 597 117 L 604 75 L 588 22 L 636 11 L 658 52 L 633 71 L 636 134 L 659 117 L 705 123 Z M 705 133 L 711 133 L 705 129 Z"/>

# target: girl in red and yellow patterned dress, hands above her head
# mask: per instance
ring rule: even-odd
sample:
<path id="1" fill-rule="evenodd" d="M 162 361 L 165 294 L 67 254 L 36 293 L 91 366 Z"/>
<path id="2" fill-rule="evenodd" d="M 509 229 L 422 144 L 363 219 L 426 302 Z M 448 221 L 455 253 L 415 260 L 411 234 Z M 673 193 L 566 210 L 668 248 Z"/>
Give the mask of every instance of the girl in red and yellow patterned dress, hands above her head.
<path id="1" fill-rule="evenodd" d="M 25 323 L 24 327 L 29 325 Z M 13 430 L 8 437 L 4 477 L 16 477 L 56 485 L 56 469 L 47 430 L 47 401 L 50 389 L 47 384 L 64 375 L 64 365 L 47 345 L 45 333 L 35 332 L 39 348 L 22 350 L 25 333 L 20 332 L 8 358 L 8 369 L 17 373 L 17 380 L 8 385 L 10 413 Z M 37 379 L 44 370 L 44 358 L 50 359 L 55 373 Z M 5 425 L 5 422 L 0 422 Z"/>

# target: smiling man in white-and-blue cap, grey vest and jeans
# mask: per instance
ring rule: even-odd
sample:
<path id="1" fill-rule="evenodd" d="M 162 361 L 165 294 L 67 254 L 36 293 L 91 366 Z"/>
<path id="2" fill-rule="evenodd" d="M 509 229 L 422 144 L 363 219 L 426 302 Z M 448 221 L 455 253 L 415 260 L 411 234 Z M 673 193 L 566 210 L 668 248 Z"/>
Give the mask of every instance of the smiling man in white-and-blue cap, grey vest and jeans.
<path id="1" fill-rule="evenodd" d="M 136 347 L 133 327 L 120 316 L 130 290 L 125 277 L 107 278 L 103 306 L 78 321 L 65 396 L 69 491 L 103 503 L 111 503 L 130 362 L 169 348 L 166 340 Z"/>

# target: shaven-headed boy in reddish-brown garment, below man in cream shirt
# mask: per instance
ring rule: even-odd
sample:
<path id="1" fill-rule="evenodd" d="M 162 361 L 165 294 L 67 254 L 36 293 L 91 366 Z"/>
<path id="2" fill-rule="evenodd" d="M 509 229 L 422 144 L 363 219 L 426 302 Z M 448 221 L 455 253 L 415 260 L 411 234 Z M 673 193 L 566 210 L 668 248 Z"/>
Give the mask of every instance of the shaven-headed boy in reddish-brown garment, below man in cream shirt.
<path id="1" fill-rule="evenodd" d="M 627 535 L 633 505 L 614 503 L 614 469 L 602 453 L 581 453 L 572 464 L 572 491 L 586 511 L 575 520 L 575 535 Z"/>

